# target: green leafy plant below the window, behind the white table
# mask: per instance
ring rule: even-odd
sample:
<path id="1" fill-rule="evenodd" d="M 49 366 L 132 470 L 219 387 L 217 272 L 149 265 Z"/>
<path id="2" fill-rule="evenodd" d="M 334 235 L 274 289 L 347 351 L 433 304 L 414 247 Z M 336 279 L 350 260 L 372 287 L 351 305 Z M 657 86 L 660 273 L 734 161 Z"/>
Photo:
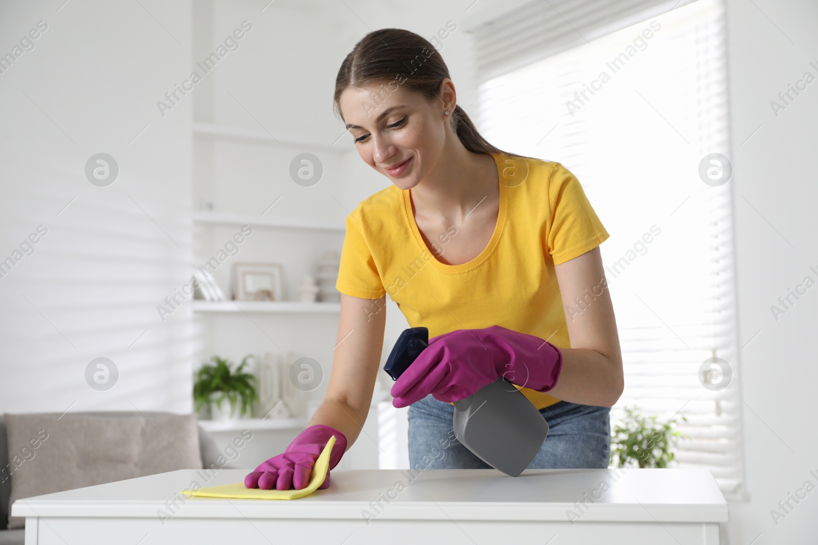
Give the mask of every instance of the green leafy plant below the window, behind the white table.
<path id="1" fill-rule="evenodd" d="M 656 422 L 656 415 L 645 417 L 638 407 L 625 407 L 622 423 L 613 427 L 611 460 L 618 467 L 636 462 L 639 467 L 667 467 L 674 459 L 672 448 L 685 437 L 676 427 L 676 419 Z M 682 417 L 687 422 L 687 418 Z"/>

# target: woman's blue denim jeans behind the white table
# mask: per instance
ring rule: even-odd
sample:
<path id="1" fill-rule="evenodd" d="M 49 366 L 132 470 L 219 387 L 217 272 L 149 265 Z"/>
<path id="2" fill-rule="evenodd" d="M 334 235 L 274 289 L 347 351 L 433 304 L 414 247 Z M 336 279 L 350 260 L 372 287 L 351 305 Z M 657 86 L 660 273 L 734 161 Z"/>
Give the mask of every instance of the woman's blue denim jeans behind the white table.
<path id="1" fill-rule="evenodd" d="M 455 439 L 454 406 L 427 395 L 409 406 L 409 464 L 425 469 L 490 469 Z M 551 428 L 528 469 L 605 468 L 610 408 L 558 401 L 540 409 Z"/>

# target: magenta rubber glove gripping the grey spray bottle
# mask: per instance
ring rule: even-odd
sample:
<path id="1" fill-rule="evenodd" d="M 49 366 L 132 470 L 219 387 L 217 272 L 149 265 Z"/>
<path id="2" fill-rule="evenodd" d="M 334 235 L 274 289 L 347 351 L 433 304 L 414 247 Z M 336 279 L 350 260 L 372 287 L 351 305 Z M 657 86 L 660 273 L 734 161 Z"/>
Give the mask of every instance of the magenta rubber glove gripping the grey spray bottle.
<path id="1" fill-rule="evenodd" d="M 550 391 L 560 378 L 562 352 L 540 337 L 499 325 L 456 329 L 429 339 L 429 346 L 392 386 L 394 407 L 432 394 L 462 400 L 499 377 L 517 386 Z"/>

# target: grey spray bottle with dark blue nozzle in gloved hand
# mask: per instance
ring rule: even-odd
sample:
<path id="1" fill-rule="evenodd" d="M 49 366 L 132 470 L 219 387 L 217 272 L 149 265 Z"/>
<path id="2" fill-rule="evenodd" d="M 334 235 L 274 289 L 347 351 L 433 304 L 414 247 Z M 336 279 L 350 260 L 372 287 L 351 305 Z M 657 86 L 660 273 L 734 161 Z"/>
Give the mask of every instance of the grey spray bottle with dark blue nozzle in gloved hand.
<path id="1" fill-rule="evenodd" d="M 404 329 L 384 371 L 393 380 L 429 346 L 429 329 Z M 453 403 L 452 430 L 458 441 L 489 466 L 518 476 L 548 436 L 548 422 L 505 377 Z"/>

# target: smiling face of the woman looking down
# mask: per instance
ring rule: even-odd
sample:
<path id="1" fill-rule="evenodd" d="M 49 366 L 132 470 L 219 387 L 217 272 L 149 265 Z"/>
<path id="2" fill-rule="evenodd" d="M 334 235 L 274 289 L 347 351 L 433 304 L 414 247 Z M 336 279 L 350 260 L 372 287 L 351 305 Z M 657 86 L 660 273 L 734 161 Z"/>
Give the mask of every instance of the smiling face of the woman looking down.
<path id="1" fill-rule="evenodd" d="M 396 85 L 348 87 L 339 106 L 364 163 L 407 190 L 418 185 L 438 162 L 452 115 L 443 112 L 452 110 L 443 101 L 430 104 L 419 93 L 399 85 L 389 91 Z"/>

